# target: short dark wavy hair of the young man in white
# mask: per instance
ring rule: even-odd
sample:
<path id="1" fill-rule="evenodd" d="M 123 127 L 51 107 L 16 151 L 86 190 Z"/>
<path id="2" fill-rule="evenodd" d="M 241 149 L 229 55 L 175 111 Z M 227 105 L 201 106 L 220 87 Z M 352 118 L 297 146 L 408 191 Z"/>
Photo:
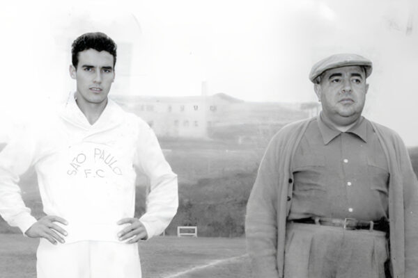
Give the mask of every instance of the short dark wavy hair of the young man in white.
<path id="1" fill-rule="evenodd" d="M 72 42 L 71 54 L 72 65 L 77 69 L 78 54 L 87 49 L 95 49 L 97 51 L 107 51 L 114 56 L 114 67 L 116 65 L 116 43 L 105 33 L 85 33 L 80 35 Z"/>

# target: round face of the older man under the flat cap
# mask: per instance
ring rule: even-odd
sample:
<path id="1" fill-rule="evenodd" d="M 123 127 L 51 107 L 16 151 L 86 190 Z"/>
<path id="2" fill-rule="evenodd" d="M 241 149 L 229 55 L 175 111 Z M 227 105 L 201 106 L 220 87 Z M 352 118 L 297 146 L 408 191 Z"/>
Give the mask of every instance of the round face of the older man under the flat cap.
<path id="1" fill-rule="evenodd" d="M 362 115 L 368 89 L 366 74 L 359 66 L 327 70 L 315 85 L 323 115 L 337 126 L 353 124 Z"/>

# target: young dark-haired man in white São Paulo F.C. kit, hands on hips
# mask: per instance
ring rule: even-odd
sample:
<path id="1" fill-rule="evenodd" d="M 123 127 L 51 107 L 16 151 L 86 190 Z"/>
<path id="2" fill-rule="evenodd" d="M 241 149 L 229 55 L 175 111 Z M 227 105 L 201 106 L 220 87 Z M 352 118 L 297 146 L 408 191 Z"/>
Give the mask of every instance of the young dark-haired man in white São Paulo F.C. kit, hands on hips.
<path id="1" fill-rule="evenodd" d="M 40 238 L 38 278 L 141 277 L 137 243 L 161 234 L 178 208 L 177 176 L 155 134 L 107 97 L 116 44 L 86 33 L 72 44 L 77 90 L 54 117 L 0 152 L 0 214 Z M 45 217 L 24 205 L 19 177 L 35 167 Z M 150 180 L 146 213 L 134 218 L 136 172 Z"/>

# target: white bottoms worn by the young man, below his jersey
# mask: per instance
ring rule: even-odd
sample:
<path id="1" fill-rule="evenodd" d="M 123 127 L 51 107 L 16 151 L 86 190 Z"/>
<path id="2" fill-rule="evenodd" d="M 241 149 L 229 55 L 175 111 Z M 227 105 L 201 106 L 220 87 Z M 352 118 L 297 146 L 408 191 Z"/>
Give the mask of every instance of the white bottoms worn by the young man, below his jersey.
<path id="1" fill-rule="evenodd" d="M 141 278 L 138 245 L 107 241 L 49 243 L 40 239 L 38 278 Z"/>

